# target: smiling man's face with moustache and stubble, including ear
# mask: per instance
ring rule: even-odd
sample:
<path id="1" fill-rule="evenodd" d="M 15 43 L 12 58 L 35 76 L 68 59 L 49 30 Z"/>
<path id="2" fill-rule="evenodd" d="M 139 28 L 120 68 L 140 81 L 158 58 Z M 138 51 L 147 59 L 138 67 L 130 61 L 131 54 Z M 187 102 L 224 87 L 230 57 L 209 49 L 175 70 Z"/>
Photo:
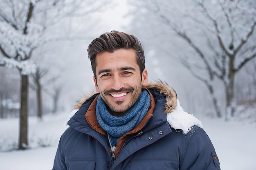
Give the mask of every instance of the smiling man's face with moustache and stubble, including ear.
<path id="1" fill-rule="evenodd" d="M 148 72 L 144 69 L 141 79 L 136 57 L 133 49 L 97 54 L 94 84 L 114 116 L 125 115 L 139 98 L 142 86 L 148 84 Z"/>

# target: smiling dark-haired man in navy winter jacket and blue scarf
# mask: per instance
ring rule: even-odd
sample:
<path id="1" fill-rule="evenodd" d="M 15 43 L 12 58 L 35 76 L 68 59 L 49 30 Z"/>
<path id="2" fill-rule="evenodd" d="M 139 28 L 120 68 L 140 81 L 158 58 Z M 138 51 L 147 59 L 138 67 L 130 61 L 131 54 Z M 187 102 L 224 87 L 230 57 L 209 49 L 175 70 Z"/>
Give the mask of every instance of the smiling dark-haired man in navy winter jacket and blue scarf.
<path id="1" fill-rule="evenodd" d="M 75 107 L 53 170 L 220 170 L 201 122 L 166 83 L 148 83 L 135 36 L 104 33 L 88 55 L 97 93 Z"/>

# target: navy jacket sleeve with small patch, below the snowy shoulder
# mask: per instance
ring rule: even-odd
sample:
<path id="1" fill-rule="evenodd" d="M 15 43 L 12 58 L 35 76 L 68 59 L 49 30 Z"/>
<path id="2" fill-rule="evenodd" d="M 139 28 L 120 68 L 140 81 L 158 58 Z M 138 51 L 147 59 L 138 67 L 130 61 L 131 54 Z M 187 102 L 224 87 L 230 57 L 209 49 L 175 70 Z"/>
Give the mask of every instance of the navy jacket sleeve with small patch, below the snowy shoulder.
<path id="1" fill-rule="evenodd" d="M 220 170 L 213 144 L 202 128 L 195 130 L 192 135 L 180 170 Z"/>

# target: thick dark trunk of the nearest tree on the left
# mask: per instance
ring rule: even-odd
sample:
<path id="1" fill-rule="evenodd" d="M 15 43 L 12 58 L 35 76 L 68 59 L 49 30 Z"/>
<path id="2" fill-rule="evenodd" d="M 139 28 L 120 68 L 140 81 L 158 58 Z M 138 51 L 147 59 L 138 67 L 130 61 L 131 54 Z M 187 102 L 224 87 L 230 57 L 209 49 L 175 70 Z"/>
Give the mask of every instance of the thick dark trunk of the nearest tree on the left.
<path id="1" fill-rule="evenodd" d="M 19 149 L 27 149 L 29 76 L 21 75 Z"/>

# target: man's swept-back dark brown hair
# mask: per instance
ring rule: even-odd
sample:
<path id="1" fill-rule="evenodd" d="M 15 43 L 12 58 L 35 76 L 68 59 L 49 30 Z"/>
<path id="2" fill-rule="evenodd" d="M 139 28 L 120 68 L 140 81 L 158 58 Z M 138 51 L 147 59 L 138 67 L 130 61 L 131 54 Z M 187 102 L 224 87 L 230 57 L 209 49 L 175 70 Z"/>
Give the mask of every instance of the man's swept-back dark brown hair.
<path id="1" fill-rule="evenodd" d="M 96 78 L 96 56 L 98 53 L 110 52 L 113 53 L 118 49 L 134 49 L 137 53 L 137 64 L 139 71 L 145 69 L 145 56 L 141 42 L 134 36 L 119 31 L 111 31 L 110 33 L 103 33 L 99 38 L 94 39 L 88 46 L 87 52 L 92 65 L 92 71 Z"/>

